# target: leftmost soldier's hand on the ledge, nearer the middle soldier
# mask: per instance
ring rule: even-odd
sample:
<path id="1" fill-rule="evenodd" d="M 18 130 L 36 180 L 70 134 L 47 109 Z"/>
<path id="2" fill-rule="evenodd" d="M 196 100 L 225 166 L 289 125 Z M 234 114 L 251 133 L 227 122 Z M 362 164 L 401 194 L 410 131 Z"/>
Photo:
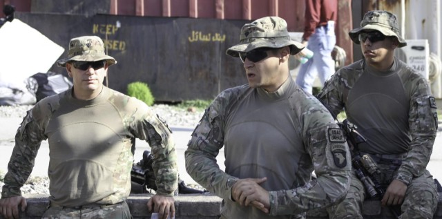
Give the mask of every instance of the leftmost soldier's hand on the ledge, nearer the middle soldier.
<path id="1" fill-rule="evenodd" d="M 149 211 L 158 213 L 158 218 L 175 218 L 175 199 L 169 196 L 155 195 L 147 202 Z"/>

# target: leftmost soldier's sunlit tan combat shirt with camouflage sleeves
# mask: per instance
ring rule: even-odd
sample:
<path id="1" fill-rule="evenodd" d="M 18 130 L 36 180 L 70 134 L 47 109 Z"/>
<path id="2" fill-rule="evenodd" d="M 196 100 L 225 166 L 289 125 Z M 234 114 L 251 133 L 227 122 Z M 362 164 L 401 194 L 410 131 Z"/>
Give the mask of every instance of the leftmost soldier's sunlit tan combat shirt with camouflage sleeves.
<path id="1" fill-rule="evenodd" d="M 21 195 L 40 143 L 48 140 L 51 202 L 122 202 L 131 191 L 135 137 L 152 148 L 157 193 L 173 196 L 175 144 L 167 124 L 146 104 L 106 87 L 88 101 L 73 98 L 72 90 L 42 99 L 17 131 L 2 198 Z"/>

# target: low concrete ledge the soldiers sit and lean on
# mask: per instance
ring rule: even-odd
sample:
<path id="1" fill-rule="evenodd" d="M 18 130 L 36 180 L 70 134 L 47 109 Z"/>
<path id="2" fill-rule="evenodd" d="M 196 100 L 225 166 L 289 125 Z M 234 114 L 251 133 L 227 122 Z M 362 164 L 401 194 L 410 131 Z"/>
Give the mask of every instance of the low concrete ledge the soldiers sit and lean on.
<path id="1" fill-rule="evenodd" d="M 47 196 L 28 196 L 28 207 L 21 212 L 20 218 L 37 219 L 43 216 L 48 206 Z M 127 202 L 134 219 L 151 218 L 146 203 L 151 194 L 131 195 Z M 215 219 L 220 217 L 221 198 L 212 195 L 189 194 L 175 197 L 176 219 Z M 394 218 L 390 209 L 381 207 L 381 202 L 367 200 L 364 202 L 364 218 Z M 311 211 L 308 219 L 327 219 L 325 211 Z M 439 193 L 439 204 L 434 218 L 442 219 L 442 193 Z M 0 216 L 0 219 L 3 219 Z"/>

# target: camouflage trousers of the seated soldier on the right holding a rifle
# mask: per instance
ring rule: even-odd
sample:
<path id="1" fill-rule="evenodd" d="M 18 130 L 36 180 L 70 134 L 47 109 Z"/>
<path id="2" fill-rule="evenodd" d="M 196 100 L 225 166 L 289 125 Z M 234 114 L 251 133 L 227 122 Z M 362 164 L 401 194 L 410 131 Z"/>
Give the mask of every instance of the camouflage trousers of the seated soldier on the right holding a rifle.
<path id="1" fill-rule="evenodd" d="M 398 165 L 392 165 L 391 160 L 378 161 L 381 169 L 381 184 L 387 188 L 396 176 Z M 363 183 L 352 174 L 350 189 L 343 202 L 327 209 L 329 218 L 363 218 L 363 200 L 367 197 Z M 368 197 L 367 197 L 368 198 Z M 405 199 L 401 205 L 402 214 L 399 218 L 433 218 L 439 200 L 436 185 L 430 172 L 425 170 L 423 175 L 414 178 L 407 187 Z"/>

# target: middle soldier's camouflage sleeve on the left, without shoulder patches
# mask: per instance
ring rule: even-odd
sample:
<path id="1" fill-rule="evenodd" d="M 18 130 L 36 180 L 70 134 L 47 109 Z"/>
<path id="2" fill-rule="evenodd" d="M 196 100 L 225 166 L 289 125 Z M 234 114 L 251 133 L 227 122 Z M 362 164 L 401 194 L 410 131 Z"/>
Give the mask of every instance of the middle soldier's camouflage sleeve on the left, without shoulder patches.
<path id="1" fill-rule="evenodd" d="M 185 152 L 186 171 L 193 180 L 223 199 L 231 199 L 231 187 L 238 180 L 220 169 L 216 156 L 224 145 L 222 108 L 226 104 L 221 93 L 206 109 L 200 124 L 193 131 Z M 228 99 L 228 97 L 227 97 Z"/>

